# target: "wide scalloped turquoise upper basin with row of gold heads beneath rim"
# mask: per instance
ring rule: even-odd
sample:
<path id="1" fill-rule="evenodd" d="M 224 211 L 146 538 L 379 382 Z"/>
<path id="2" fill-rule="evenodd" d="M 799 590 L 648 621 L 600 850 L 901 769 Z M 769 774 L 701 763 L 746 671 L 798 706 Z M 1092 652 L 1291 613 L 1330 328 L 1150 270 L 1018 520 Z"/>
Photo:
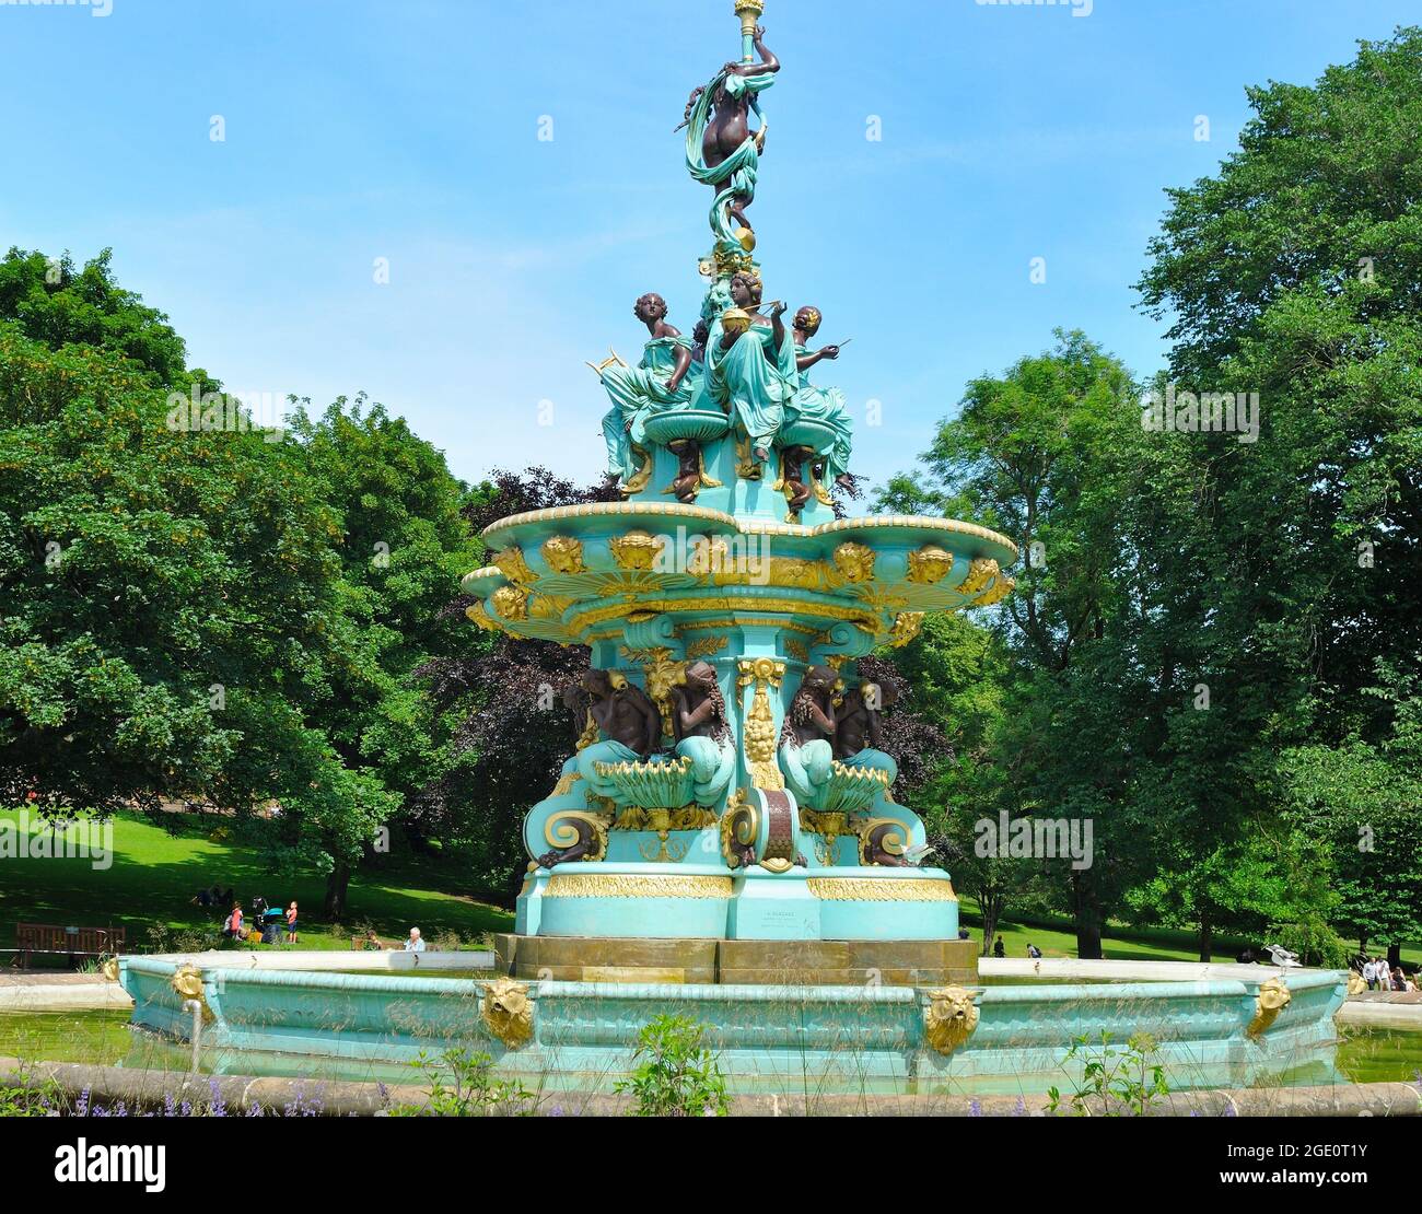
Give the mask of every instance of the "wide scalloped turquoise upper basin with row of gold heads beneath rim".
<path id="1" fill-rule="evenodd" d="M 1017 546 L 953 519 L 880 515 L 811 525 L 675 502 L 530 510 L 483 532 L 492 563 L 464 579 L 469 618 L 516 637 L 590 644 L 663 614 L 784 613 L 897 638 L 927 611 L 1003 598 Z M 896 633 L 897 630 L 897 633 Z"/>

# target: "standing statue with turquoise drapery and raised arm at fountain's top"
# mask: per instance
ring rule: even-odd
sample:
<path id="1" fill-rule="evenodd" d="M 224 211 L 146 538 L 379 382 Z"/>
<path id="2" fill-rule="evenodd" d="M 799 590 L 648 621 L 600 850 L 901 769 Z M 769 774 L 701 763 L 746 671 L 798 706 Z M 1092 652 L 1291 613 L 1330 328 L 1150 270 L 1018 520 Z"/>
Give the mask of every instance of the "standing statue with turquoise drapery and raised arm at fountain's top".
<path id="1" fill-rule="evenodd" d="M 722 247 L 751 250 L 755 232 L 745 208 L 755 199 L 755 179 L 765 151 L 765 125 L 751 131 L 751 112 L 759 117 L 759 94 L 775 82 L 781 61 L 765 47 L 765 30 L 755 27 L 759 63 L 728 63 L 710 85 L 691 94 L 681 127 L 687 131 L 687 169 L 715 190 L 711 230 Z M 681 127 L 677 129 L 680 131 Z M 737 233 L 731 220 L 741 225 Z"/>

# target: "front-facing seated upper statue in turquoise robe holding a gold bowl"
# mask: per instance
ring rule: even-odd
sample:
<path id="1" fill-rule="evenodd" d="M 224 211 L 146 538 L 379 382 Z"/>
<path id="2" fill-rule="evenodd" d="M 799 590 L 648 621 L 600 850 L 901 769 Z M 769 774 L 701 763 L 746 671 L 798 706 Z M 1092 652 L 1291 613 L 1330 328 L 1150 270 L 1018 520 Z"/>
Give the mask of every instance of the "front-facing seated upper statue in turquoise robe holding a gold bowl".
<path id="1" fill-rule="evenodd" d="M 734 306 L 712 324 L 705 351 L 705 394 L 747 434 L 755 465 L 771 458 L 785 407 L 799 391 L 795 344 L 781 320 L 785 304 L 764 316 L 762 291 L 755 273 L 731 279 Z"/>

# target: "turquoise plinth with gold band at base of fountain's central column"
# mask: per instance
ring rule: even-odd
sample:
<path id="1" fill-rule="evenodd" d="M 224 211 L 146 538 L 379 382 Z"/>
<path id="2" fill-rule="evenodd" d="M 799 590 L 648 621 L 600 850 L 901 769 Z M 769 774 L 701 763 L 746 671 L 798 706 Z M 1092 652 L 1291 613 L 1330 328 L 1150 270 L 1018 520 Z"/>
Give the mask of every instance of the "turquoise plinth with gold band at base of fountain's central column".
<path id="1" fill-rule="evenodd" d="M 941 869 L 573 863 L 529 874 L 516 927 L 565 937 L 957 940 L 958 900 Z"/>

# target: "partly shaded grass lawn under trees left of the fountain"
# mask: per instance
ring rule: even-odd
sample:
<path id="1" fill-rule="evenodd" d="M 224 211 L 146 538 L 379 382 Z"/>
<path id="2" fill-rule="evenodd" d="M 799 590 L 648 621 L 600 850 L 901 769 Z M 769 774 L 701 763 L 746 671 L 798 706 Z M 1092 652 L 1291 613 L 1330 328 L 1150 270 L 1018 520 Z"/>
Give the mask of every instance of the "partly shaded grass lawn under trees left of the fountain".
<path id="1" fill-rule="evenodd" d="M 0 810 L 0 822 L 17 822 Z M 189 931 L 220 925 L 219 910 L 191 904 L 192 896 L 213 884 L 232 886 L 250 914 L 252 898 L 264 897 L 286 907 L 293 898 L 301 910 L 301 948 L 348 948 L 320 920 L 326 880 L 303 874 L 294 880 L 273 877 L 260 854 L 226 839 L 230 819 L 173 816 L 172 834 L 138 815 L 114 820 L 114 863 L 95 870 L 90 860 L 0 859 L 0 950 L 14 945 L 17 921 L 82 927 L 128 928 L 132 951 L 149 948 L 148 930 L 162 925 Z M 31 833 L 36 823 L 31 820 Z M 411 927 L 434 940 L 456 933 L 465 944 L 486 933 L 506 931 L 513 917 L 475 901 L 466 870 L 454 859 L 381 857 L 378 870 L 351 879 L 347 925 L 370 921 L 383 937 L 404 938 Z M 249 945 L 245 945 L 249 947 Z M 3 964 L 3 962 L 0 962 Z"/>

